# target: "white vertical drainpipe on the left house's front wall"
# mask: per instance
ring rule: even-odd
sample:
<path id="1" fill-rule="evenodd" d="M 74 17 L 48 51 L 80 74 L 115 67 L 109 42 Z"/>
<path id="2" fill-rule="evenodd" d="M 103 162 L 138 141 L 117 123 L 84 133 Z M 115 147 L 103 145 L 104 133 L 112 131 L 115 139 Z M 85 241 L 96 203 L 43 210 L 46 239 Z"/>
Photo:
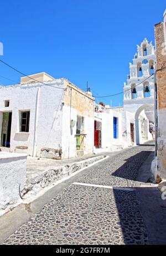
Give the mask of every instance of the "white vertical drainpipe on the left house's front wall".
<path id="1" fill-rule="evenodd" d="M 37 154 L 37 126 L 38 126 L 39 96 L 40 96 L 40 87 L 38 88 L 38 91 L 37 91 L 36 104 L 35 104 L 33 157 L 35 157 Z"/>

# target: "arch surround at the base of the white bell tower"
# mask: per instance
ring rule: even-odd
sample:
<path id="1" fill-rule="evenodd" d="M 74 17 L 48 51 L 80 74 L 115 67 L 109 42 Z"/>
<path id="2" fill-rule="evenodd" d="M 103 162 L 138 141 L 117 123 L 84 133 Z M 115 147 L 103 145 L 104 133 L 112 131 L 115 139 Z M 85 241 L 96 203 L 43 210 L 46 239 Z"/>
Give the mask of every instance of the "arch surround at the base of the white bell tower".
<path id="1" fill-rule="evenodd" d="M 135 114 L 135 136 L 136 136 L 136 145 L 141 144 L 141 122 L 139 120 L 139 115 L 143 110 L 149 109 L 149 108 L 154 108 L 153 104 L 144 104 L 138 107 L 136 114 Z"/>

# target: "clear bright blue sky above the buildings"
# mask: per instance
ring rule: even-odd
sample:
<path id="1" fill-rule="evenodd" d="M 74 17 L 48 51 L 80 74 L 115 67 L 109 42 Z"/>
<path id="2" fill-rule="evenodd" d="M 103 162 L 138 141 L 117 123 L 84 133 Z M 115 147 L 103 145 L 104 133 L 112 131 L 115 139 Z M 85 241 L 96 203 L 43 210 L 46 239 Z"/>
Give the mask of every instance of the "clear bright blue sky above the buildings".
<path id="1" fill-rule="evenodd" d="M 1 59 L 30 75 L 45 71 L 67 78 L 94 95 L 123 90 L 136 45 L 154 43 L 154 24 L 163 21 L 164 1 L 7 0 L 1 2 Z M 0 84 L 20 74 L 0 63 Z M 123 95 L 97 99 L 123 104 Z"/>

